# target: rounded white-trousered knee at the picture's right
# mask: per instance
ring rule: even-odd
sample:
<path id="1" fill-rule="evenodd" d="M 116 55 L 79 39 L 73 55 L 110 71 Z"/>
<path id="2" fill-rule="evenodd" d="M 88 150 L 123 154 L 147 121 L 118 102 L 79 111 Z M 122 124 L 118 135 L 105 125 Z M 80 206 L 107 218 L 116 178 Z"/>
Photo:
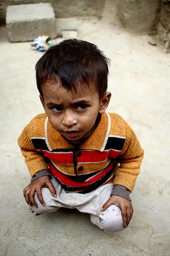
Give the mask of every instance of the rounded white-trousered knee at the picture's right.
<path id="1" fill-rule="evenodd" d="M 116 205 L 110 205 L 105 212 L 100 215 L 102 229 L 107 232 L 119 232 L 124 230 L 123 219 L 120 208 Z"/>

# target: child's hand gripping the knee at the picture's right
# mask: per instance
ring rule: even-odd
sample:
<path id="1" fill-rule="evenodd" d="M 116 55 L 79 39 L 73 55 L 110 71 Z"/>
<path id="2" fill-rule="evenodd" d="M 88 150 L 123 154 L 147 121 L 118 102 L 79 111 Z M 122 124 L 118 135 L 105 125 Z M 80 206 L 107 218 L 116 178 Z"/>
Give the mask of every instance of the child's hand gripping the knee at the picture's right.
<path id="1" fill-rule="evenodd" d="M 101 211 L 105 211 L 111 204 L 115 204 L 120 207 L 123 218 L 123 226 L 127 228 L 134 212 L 131 201 L 121 196 L 112 195 L 103 205 Z"/>

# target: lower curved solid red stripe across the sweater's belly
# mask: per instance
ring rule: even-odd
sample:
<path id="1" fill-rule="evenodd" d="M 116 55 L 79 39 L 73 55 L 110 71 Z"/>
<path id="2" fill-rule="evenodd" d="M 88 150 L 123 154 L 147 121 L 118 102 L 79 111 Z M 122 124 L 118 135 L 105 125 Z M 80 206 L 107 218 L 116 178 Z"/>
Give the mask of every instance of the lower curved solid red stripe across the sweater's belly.
<path id="1" fill-rule="evenodd" d="M 71 187 L 85 187 L 90 185 L 92 182 L 99 180 L 101 178 L 101 176 L 105 176 L 106 171 L 109 171 L 114 165 L 114 161 L 110 163 L 109 166 L 107 166 L 103 171 L 101 171 L 100 173 L 96 174 L 95 176 L 93 176 L 91 179 L 89 179 L 88 181 L 84 181 L 84 182 L 79 182 L 79 181 L 75 181 L 72 179 L 69 179 L 66 175 L 64 175 L 63 173 L 61 173 L 59 170 L 57 170 L 54 165 L 49 161 L 49 167 L 50 167 L 50 171 L 51 173 L 57 177 L 57 179 L 59 179 L 61 181 L 61 183 L 71 186 Z"/>

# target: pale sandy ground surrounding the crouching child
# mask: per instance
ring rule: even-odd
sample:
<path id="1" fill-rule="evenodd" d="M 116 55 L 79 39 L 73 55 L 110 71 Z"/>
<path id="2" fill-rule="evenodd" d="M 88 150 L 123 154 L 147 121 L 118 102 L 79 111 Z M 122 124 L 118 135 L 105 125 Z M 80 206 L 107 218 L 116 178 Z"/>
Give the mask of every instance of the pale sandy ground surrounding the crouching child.
<path id="1" fill-rule="evenodd" d="M 131 195 L 134 215 L 125 231 L 110 234 L 77 210 L 29 212 L 23 188 L 30 175 L 17 138 L 43 112 L 34 71 L 41 53 L 29 43 L 9 43 L 1 27 L 0 256 L 169 256 L 170 55 L 148 44 L 149 36 L 131 35 L 103 21 L 61 19 L 58 26 L 64 22 L 111 58 L 108 111 L 129 123 L 145 150 Z"/>

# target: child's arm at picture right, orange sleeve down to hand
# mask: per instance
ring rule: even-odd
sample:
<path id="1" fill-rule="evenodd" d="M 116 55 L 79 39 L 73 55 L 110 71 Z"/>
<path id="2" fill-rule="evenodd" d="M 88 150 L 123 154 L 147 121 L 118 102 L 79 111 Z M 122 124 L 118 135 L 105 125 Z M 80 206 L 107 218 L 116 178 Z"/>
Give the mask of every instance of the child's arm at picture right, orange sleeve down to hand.
<path id="1" fill-rule="evenodd" d="M 126 123 L 126 140 L 116 161 L 120 166 L 116 169 L 114 188 L 111 197 L 103 205 L 101 211 L 105 211 L 111 204 L 120 207 L 123 226 L 126 228 L 133 215 L 132 203 L 127 198 L 127 192 L 132 192 L 135 186 L 135 180 L 140 172 L 140 164 L 143 159 L 143 149 L 136 138 L 134 131 Z M 118 191 L 118 185 L 119 191 Z M 124 188 L 123 188 L 124 187 Z M 126 190 L 125 190 L 126 189 Z M 123 195 L 123 192 L 125 194 Z"/>

